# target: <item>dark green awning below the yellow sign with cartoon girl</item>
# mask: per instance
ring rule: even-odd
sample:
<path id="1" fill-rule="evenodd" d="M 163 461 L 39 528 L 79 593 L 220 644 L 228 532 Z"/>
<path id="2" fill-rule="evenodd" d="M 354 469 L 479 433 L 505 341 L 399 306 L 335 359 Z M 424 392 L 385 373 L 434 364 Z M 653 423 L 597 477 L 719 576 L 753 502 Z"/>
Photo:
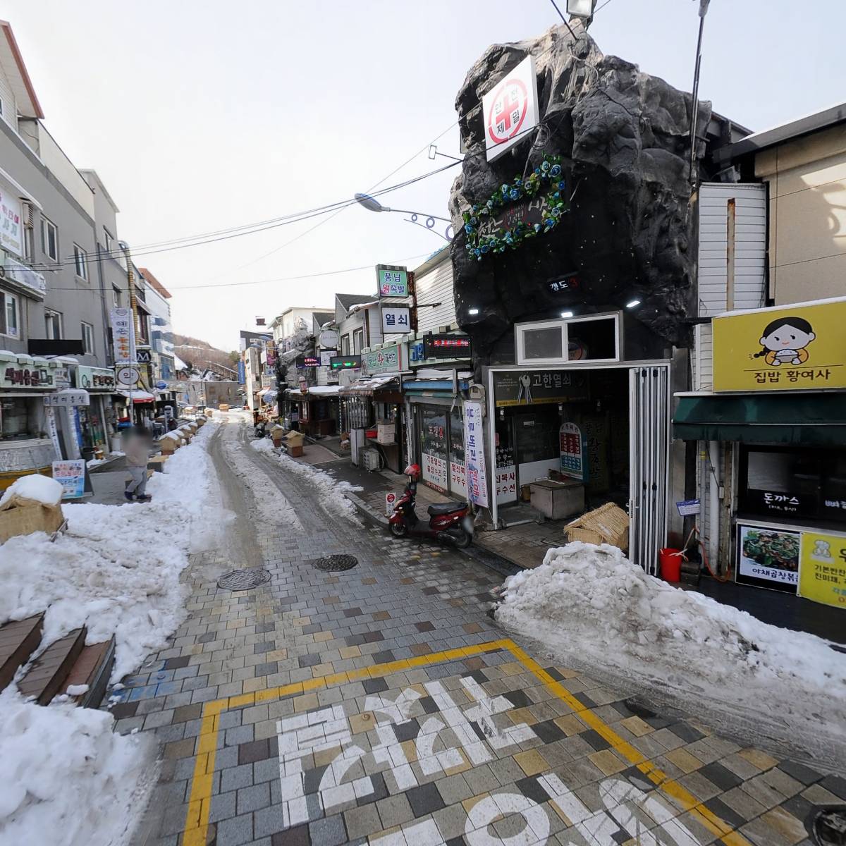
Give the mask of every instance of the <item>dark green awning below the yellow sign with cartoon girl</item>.
<path id="1" fill-rule="evenodd" d="M 842 447 L 846 444 L 846 393 L 682 396 L 673 415 L 673 437 Z"/>

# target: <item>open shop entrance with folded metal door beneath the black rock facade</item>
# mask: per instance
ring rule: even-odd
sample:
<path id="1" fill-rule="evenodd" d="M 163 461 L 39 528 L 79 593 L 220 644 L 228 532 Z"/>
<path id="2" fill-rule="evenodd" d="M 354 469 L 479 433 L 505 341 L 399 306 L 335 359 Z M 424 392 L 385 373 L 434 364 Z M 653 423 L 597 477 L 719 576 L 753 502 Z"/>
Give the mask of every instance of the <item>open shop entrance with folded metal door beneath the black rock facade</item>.
<path id="1" fill-rule="evenodd" d="M 629 556 L 653 572 L 667 530 L 667 371 L 492 370 L 495 521 L 529 500 L 532 482 L 579 481 L 585 511 L 616 503 L 629 512 Z"/>

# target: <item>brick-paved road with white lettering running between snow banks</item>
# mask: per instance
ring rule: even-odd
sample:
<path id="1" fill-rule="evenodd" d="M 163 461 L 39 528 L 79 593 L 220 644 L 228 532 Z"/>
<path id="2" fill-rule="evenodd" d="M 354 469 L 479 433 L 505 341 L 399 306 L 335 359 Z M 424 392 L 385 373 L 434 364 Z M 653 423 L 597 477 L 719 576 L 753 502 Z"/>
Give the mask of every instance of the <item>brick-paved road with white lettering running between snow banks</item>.
<path id="1" fill-rule="evenodd" d="M 190 617 L 114 708 L 162 742 L 136 843 L 786 846 L 846 799 L 842 778 L 552 665 L 487 617 L 497 574 L 339 518 L 244 448 L 299 518 L 256 522 L 239 441 L 230 420 L 211 443 L 230 548 L 195 560 Z M 357 565 L 316 568 L 335 554 Z M 227 562 L 270 580 L 221 590 L 206 565 Z"/>

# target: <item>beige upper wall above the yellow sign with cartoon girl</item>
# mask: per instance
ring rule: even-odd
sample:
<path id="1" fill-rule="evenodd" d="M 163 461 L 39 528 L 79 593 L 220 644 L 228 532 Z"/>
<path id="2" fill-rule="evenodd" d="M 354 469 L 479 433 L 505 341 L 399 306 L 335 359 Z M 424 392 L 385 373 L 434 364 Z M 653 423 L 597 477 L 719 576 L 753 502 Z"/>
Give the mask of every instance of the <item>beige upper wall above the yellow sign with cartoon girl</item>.
<path id="1" fill-rule="evenodd" d="M 846 126 L 762 151 L 769 185 L 770 296 L 776 305 L 838 297 L 846 279 Z"/>

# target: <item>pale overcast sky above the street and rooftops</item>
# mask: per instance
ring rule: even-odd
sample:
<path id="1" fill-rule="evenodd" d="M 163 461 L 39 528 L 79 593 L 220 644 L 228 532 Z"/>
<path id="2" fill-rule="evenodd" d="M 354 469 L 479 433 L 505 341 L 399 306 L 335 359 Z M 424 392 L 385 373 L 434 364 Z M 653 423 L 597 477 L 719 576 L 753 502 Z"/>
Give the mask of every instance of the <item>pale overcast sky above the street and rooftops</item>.
<path id="1" fill-rule="evenodd" d="M 591 36 L 689 91 L 697 8 L 609 0 Z M 375 288 L 371 269 L 281 277 L 413 267 L 445 242 L 354 206 L 306 234 L 323 218 L 156 255 L 144 245 L 343 200 L 418 151 L 384 184 L 448 163 L 425 150 L 439 138 L 458 154 L 453 104 L 470 65 L 558 22 L 549 0 L 0 0 L 0 13 L 47 128 L 100 174 L 119 237 L 173 293 L 174 329 L 225 349 L 255 316 Z M 700 96 L 752 129 L 841 102 L 844 30 L 843 0 L 712 0 Z M 446 217 L 454 173 L 383 202 Z"/>

